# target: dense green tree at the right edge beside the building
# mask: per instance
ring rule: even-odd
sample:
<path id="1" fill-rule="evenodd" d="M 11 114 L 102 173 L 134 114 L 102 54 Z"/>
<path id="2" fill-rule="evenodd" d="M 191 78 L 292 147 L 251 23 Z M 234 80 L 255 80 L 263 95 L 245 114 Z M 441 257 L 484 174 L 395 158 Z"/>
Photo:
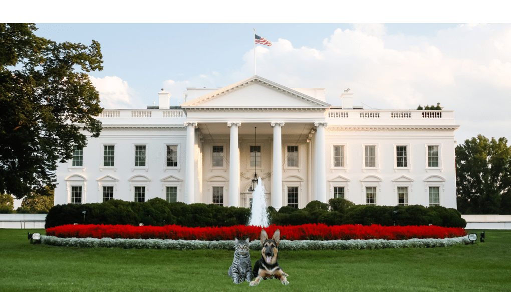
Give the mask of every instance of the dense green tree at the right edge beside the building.
<path id="1" fill-rule="evenodd" d="M 511 147 L 478 135 L 456 147 L 457 209 L 461 214 L 509 214 Z"/>

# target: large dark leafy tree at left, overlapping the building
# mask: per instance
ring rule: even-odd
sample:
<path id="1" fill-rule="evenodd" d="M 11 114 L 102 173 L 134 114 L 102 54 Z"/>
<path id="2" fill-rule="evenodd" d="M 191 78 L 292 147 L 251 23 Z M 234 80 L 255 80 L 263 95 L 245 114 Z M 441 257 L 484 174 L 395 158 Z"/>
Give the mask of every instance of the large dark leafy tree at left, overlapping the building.
<path id="1" fill-rule="evenodd" d="M 56 43 L 34 23 L 0 23 L 0 193 L 55 187 L 56 163 L 98 137 L 99 93 L 85 72 L 102 70 L 100 44 Z"/>

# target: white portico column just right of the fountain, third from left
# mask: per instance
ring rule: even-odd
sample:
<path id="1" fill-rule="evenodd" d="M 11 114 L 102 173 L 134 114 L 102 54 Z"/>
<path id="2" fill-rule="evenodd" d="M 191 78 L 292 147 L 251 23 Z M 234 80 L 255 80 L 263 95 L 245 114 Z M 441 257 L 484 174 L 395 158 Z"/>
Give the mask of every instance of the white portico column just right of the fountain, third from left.
<path id="1" fill-rule="evenodd" d="M 280 209 L 282 197 L 282 128 L 284 123 L 272 122 L 273 127 L 273 175 L 271 176 L 271 206 Z"/>

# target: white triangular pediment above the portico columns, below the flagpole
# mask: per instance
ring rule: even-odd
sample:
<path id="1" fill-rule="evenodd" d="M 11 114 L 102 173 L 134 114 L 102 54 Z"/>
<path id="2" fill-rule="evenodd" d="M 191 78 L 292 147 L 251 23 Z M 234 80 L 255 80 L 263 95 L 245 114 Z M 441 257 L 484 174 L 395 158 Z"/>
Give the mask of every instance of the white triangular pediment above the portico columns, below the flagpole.
<path id="1" fill-rule="evenodd" d="M 330 104 L 276 84 L 257 75 L 181 104 L 183 110 L 200 108 L 315 108 Z"/>

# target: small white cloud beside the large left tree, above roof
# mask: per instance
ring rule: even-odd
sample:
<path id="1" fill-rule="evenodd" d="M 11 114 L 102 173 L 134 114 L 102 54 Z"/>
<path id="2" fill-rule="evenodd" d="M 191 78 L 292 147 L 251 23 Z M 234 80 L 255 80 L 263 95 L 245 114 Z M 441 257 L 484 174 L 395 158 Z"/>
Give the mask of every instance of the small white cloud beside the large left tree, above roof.
<path id="1" fill-rule="evenodd" d="M 128 86 L 128 82 L 120 77 L 89 76 L 89 79 L 99 92 L 100 105 L 105 109 L 144 109 L 146 107 L 146 104 Z"/>

